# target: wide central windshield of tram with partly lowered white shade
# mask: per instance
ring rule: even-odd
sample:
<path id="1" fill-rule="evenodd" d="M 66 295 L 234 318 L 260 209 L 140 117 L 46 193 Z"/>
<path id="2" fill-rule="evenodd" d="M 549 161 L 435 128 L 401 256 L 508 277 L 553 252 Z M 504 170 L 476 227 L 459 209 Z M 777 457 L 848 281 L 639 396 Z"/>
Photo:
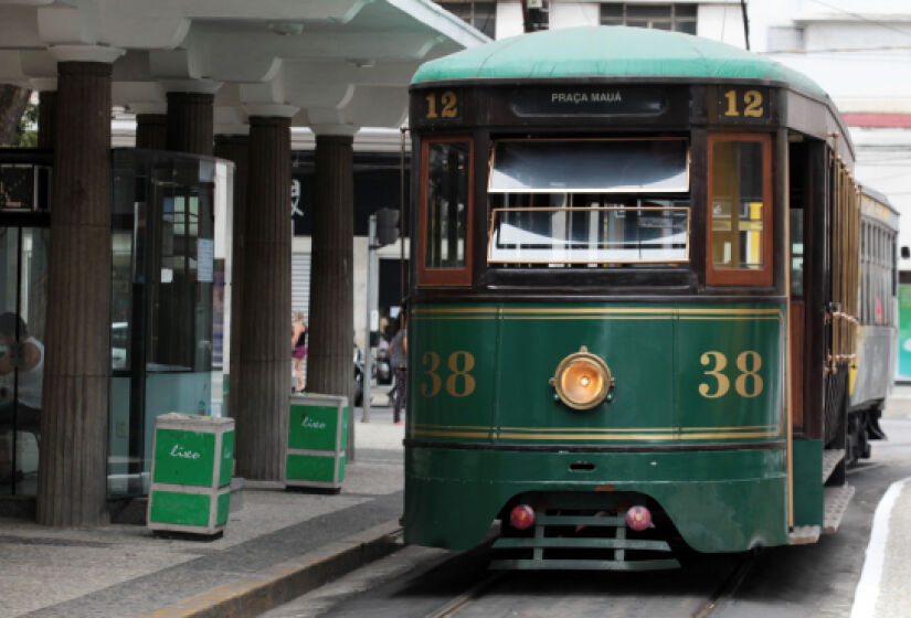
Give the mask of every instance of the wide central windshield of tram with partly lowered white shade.
<path id="1" fill-rule="evenodd" d="M 688 159 L 676 138 L 497 142 L 488 264 L 688 262 Z"/>

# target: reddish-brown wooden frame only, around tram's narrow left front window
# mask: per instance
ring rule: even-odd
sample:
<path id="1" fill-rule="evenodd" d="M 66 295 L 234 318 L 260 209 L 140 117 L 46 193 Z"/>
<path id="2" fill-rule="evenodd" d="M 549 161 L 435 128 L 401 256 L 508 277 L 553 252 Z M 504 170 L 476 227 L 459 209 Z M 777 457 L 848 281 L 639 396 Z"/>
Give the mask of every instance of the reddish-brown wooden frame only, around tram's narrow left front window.
<path id="1" fill-rule="evenodd" d="M 431 145 L 467 143 L 468 145 L 468 196 L 465 202 L 465 266 L 462 268 L 428 268 L 426 266 L 427 248 L 427 164 Z M 470 286 L 473 215 L 475 210 L 475 140 L 470 135 L 447 135 L 421 140 L 421 189 L 417 204 L 417 286 Z"/>

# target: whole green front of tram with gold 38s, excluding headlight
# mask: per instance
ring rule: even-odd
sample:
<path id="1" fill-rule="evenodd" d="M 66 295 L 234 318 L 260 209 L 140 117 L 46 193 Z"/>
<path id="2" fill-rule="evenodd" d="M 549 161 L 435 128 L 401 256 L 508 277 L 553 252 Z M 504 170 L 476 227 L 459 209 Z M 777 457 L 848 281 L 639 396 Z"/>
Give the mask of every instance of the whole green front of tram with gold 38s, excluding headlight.
<path id="1" fill-rule="evenodd" d="M 616 491 L 656 500 L 700 551 L 784 543 L 781 316 L 770 305 L 415 307 L 406 541 L 464 548 L 519 493 Z M 582 345 L 616 379 L 612 401 L 589 411 L 549 384 Z"/>

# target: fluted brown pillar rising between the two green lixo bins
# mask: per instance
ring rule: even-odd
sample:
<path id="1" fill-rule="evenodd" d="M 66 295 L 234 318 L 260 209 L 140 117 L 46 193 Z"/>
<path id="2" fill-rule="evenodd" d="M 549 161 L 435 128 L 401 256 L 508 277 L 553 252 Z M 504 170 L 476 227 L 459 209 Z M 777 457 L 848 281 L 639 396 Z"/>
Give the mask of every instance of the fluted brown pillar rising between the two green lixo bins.
<path id="1" fill-rule="evenodd" d="M 278 481 L 292 385 L 289 115 L 250 117 L 248 157 L 240 363 L 231 382 L 237 475 Z"/>

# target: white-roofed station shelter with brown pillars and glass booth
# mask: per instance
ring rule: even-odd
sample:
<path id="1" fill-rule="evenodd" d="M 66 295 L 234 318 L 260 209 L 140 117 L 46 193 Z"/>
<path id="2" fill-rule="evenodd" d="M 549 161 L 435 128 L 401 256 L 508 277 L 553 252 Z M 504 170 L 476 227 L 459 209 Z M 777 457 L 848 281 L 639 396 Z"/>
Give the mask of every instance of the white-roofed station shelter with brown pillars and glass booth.
<path id="1" fill-rule="evenodd" d="M 314 136 L 308 384 L 348 394 L 353 143 L 405 122 L 422 62 L 488 39 L 428 0 L 8 0 L 0 38 L 0 83 L 40 99 L 39 148 L 0 151 L 0 509 L 108 521 L 170 411 L 230 414 L 235 473 L 280 479 L 292 134 Z"/>

